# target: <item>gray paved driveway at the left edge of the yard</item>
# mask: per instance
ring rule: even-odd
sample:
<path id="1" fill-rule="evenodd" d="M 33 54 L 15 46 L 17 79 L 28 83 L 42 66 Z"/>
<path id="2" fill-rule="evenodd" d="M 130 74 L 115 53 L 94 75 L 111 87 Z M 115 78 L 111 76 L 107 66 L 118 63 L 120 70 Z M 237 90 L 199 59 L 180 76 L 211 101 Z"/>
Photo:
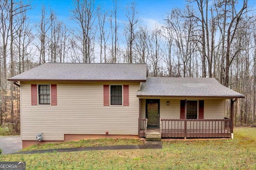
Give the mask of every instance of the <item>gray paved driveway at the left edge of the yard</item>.
<path id="1" fill-rule="evenodd" d="M 20 136 L 0 136 L 2 154 L 10 154 L 22 149 Z"/>

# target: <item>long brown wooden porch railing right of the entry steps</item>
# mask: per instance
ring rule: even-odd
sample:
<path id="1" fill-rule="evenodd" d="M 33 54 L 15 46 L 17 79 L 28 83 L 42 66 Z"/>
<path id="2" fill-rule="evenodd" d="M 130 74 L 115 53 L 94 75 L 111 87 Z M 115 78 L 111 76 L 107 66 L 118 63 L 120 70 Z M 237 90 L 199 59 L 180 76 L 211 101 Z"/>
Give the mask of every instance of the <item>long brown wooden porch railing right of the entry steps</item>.
<path id="1" fill-rule="evenodd" d="M 161 119 L 162 137 L 231 137 L 230 119 Z"/>

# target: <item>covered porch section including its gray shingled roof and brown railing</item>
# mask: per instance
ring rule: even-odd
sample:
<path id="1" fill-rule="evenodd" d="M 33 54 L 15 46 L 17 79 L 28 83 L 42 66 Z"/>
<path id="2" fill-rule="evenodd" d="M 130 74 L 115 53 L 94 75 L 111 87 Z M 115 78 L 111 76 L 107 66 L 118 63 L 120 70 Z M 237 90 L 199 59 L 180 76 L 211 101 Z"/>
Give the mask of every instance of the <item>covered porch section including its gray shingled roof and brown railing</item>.
<path id="1" fill-rule="evenodd" d="M 159 129 L 161 138 L 233 138 L 234 102 L 244 95 L 215 78 L 148 77 L 137 97 L 140 137 Z"/>

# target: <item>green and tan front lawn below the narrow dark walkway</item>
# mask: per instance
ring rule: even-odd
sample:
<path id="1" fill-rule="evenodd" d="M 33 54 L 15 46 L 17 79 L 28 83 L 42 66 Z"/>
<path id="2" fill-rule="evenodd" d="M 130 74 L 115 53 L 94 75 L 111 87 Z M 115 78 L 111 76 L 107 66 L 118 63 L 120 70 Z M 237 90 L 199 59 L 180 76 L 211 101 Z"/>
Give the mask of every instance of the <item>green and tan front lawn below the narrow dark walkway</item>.
<path id="1" fill-rule="evenodd" d="M 28 170 L 256 170 L 256 128 L 237 127 L 234 132 L 233 140 L 168 139 L 163 149 L 0 155 L 0 161 L 23 160 Z"/>

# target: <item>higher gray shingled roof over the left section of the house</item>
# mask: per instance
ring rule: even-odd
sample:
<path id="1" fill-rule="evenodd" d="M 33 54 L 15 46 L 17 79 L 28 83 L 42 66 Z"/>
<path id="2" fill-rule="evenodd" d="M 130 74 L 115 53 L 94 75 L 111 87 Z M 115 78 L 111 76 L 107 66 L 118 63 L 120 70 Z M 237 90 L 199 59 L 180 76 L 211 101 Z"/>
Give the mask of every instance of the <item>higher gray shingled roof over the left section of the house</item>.
<path id="1" fill-rule="evenodd" d="M 44 63 L 9 81 L 145 82 L 147 64 Z"/>

